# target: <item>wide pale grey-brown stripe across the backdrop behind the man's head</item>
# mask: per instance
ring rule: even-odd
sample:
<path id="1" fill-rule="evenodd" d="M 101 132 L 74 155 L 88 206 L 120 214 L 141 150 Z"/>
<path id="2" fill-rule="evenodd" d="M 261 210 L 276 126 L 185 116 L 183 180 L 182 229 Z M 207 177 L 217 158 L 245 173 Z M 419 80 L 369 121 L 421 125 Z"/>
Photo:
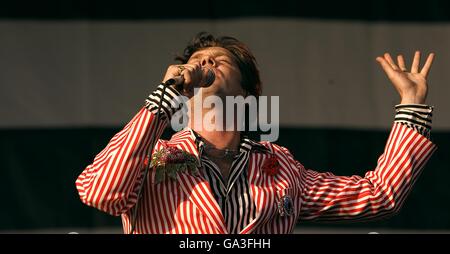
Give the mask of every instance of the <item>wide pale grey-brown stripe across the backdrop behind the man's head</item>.
<path id="1" fill-rule="evenodd" d="M 285 126 L 390 127 L 399 99 L 375 57 L 433 50 L 433 128 L 450 129 L 450 24 L 275 18 L 0 21 L 0 127 L 126 123 L 202 30 L 251 47 Z"/>

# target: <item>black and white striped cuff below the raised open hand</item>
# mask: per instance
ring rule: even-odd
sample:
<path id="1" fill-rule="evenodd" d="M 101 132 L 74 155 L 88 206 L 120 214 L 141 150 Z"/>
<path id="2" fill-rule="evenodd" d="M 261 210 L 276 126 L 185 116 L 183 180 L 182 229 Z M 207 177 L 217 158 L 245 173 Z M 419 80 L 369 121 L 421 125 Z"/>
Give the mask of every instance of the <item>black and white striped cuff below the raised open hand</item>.
<path id="1" fill-rule="evenodd" d="M 402 123 L 430 137 L 433 107 L 424 104 L 399 104 L 395 106 L 395 122 Z"/>

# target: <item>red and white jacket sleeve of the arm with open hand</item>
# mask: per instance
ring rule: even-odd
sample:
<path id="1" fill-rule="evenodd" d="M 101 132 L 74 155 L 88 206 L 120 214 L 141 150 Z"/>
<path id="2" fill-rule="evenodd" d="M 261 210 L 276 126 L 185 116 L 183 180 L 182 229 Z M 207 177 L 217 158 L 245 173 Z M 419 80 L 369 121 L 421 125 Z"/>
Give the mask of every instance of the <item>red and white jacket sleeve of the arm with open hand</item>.
<path id="1" fill-rule="evenodd" d="M 305 169 L 300 177 L 302 220 L 366 220 L 399 211 L 436 146 L 416 130 L 394 123 L 376 168 L 361 176 L 335 176 Z"/>

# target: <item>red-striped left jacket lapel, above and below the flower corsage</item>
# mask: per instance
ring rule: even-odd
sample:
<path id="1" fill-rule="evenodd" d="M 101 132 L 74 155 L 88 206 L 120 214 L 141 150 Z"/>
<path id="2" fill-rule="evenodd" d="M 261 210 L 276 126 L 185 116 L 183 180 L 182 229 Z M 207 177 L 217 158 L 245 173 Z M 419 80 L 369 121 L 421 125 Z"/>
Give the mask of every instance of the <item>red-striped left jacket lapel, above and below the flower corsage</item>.
<path id="1" fill-rule="evenodd" d="M 197 145 L 190 130 L 186 129 L 176 133 L 168 142 L 168 145 L 176 146 L 195 155 L 198 162 L 200 162 Z M 226 234 L 227 227 L 225 226 L 225 219 L 219 204 L 212 194 L 209 183 L 200 175 L 192 175 L 189 173 L 178 174 L 178 182 L 183 192 L 189 197 L 189 200 L 210 220 L 218 232 Z"/>

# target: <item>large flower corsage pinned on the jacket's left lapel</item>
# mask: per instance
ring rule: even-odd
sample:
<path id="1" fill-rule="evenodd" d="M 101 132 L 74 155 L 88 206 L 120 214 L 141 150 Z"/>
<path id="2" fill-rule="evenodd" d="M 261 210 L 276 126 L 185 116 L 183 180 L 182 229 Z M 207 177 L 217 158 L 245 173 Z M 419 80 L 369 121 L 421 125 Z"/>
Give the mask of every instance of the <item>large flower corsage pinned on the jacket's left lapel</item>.
<path id="1" fill-rule="evenodd" d="M 165 179 L 176 181 L 178 173 L 188 171 L 196 174 L 198 172 L 197 158 L 175 147 L 167 147 L 155 152 L 150 167 L 156 170 L 155 183 L 163 182 Z"/>

